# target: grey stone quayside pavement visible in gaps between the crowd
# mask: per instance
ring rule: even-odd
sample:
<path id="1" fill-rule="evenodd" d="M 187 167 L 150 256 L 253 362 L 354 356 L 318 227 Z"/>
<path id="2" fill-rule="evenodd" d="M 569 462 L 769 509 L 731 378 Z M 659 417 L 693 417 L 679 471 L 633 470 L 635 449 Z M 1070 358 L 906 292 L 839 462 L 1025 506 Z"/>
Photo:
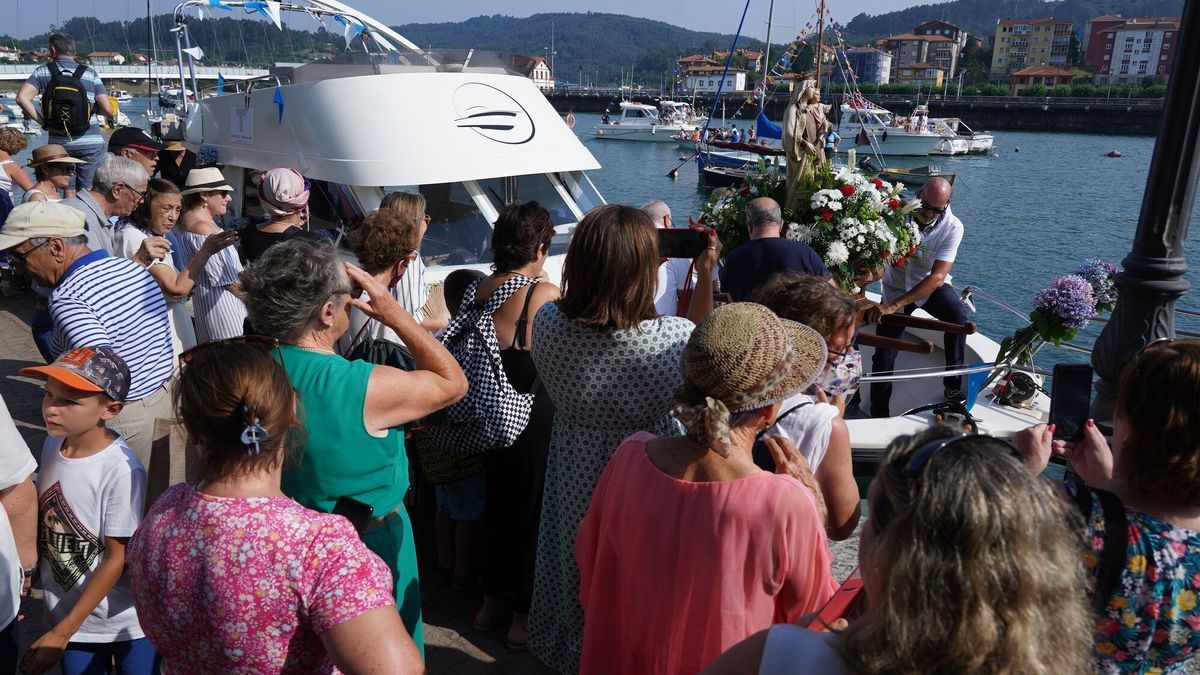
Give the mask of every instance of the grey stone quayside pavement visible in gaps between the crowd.
<path id="1" fill-rule="evenodd" d="M 41 354 L 29 333 L 32 311 L 32 294 L 28 291 L 11 292 L 0 288 L 0 396 L 8 406 L 17 428 L 29 443 L 34 456 L 38 456 L 46 428 L 42 425 L 41 383 L 17 375 L 28 365 L 42 364 Z M 422 500 L 428 503 L 428 500 Z M 416 531 L 421 578 L 434 579 L 436 555 L 433 550 L 432 509 L 421 508 L 412 513 Z M 838 556 L 834 575 L 841 580 L 853 569 L 857 561 L 858 536 L 835 544 Z M 463 595 L 431 581 L 421 585 L 421 603 L 425 613 L 426 664 L 431 674 L 473 675 L 541 675 L 554 670 L 544 665 L 529 653 L 511 652 L 504 646 L 508 623 L 488 632 L 472 627 L 475 610 L 481 598 L 478 593 Z M 28 647 L 44 629 L 42 603 L 38 597 L 25 602 L 26 616 L 22 623 L 22 645 Z M 55 673 L 58 669 L 54 670 Z"/>

